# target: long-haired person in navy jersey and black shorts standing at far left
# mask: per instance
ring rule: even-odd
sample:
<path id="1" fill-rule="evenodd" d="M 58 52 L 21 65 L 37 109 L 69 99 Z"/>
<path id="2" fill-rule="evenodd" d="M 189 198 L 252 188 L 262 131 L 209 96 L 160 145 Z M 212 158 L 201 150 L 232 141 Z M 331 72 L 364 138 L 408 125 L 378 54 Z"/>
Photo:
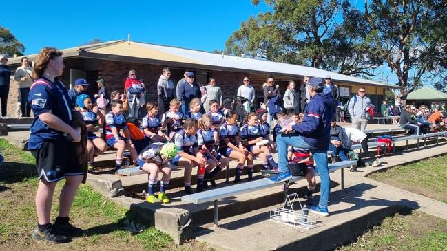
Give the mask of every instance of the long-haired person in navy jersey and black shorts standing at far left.
<path id="1" fill-rule="evenodd" d="M 36 158 L 39 186 L 36 193 L 38 224 L 32 238 L 63 243 L 82 233 L 72 226 L 70 208 L 84 175 L 76 159 L 74 142 L 81 135 L 73 129 L 74 109 L 65 85 L 57 77 L 62 75 L 62 52 L 45 47 L 36 58 L 32 78 L 35 79 L 28 101 L 34 113 L 28 150 Z M 71 140 L 71 141 L 70 141 Z M 50 213 L 56 183 L 65 178 L 59 195 L 59 215 L 50 223 Z"/>

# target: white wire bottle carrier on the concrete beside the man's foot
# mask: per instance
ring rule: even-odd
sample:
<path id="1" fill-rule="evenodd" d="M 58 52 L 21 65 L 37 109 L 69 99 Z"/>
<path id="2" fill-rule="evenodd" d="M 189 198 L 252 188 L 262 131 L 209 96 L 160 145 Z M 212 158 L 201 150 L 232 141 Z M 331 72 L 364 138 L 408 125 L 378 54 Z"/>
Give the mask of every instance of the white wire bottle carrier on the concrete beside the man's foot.
<path id="1" fill-rule="evenodd" d="M 298 200 L 298 204 L 300 204 L 300 210 L 293 209 L 293 204 L 296 200 Z M 302 206 L 298 195 L 293 193 L 291 195 L 287 195 L 287 199 L 284 201 L 282 208 L 270 210 L 270 220 L 298 228 L 311 229 L 315 228 L 317 217 L 315 215 L 311 215 L 310 210 L 308 210 L 307 215 L 305 215 L 302 211 Z"/>

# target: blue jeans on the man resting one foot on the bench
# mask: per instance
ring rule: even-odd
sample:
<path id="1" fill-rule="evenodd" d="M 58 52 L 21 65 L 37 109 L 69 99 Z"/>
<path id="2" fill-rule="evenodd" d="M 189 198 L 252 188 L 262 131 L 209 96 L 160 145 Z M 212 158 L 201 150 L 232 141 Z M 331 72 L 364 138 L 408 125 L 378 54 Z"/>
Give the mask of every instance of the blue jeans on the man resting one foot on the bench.
<path id="1" fill-rule="evenodd" d="M 309 146 L 302 137 L 298 135 L 279 134 L 276 137 L 276 150 L 278 151 L 278 166 L 280 172 L 288 171 L 287 168 L 287 146 L 295 146 L 304 149 L 310 149 L 313 160 L 316 163 L 316 169 L 320 174 L 320 208 L 327 208 L 329 200 L 329 192 L 331 190 L 331 177 L 329 177 L 329 169 L 327 166 L 327 150 L 315 149 Z"/>

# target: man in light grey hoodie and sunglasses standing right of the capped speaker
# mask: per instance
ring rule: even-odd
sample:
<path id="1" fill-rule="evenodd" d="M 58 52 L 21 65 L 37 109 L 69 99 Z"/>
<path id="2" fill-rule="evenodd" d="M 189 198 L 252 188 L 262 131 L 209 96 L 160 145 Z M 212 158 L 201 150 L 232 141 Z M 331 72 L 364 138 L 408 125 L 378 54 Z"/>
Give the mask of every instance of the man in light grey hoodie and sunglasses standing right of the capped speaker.
<path id="1" fill-rule="evenodd" d="M 373 109 L 371 100 L 365 96 L 364 88 L 359 88 L 357 95 L 349 100 L 348 111 L 351 114 L 352 127 L 365 131 L 366 124 L 368 124 L 369 109 Z"/>

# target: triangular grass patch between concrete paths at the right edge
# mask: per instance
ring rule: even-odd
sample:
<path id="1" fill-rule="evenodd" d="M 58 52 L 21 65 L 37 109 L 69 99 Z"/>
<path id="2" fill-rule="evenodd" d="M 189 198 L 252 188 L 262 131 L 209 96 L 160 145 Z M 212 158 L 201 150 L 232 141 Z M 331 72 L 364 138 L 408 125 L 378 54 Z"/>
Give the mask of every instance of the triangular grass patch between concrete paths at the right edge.
<path id="1" fill-rule="evenodd" d="M 447 155 L 433 157 L 368 177 L 447 203 L 446 162 Z"/>

